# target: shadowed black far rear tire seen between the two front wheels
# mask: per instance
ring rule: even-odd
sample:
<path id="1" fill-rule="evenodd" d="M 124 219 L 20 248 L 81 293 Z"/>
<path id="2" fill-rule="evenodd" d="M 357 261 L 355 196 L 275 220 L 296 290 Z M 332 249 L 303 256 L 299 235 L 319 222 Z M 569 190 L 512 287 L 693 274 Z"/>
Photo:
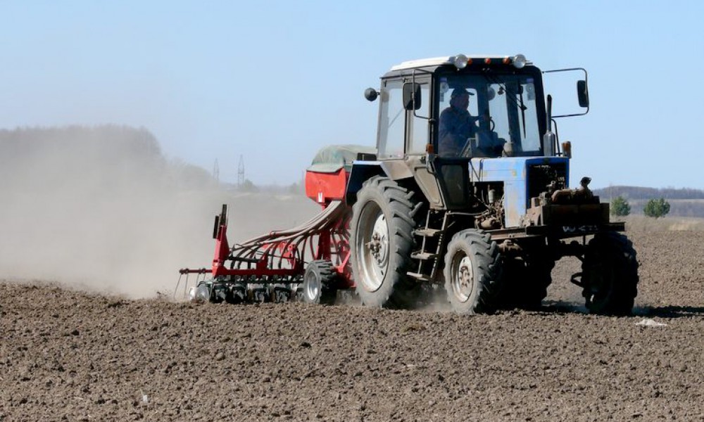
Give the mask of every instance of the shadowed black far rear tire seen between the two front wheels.
<path id="1" fill-rule="evenodd" d="M 510 258 L 503 260 L 501 293 L 498 307 L 502 309 L 540 309 L 553 281 L 555 262 L 547 257 L 528 260 Z"/>

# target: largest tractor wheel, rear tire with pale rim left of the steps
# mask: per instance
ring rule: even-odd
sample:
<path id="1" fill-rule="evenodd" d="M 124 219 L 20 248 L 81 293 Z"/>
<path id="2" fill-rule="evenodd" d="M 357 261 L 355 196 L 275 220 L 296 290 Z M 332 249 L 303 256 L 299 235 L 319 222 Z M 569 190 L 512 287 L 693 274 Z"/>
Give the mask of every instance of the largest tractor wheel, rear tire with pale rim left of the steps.
<path id="1" fill-rule="evenodd" d="M 365 181 L 352 207 L 350 245 L 352 274 L 363 305 L 403 308 L 415 304 L 420 292 L 410 281 L 413 191 L 386 177 Z"/>

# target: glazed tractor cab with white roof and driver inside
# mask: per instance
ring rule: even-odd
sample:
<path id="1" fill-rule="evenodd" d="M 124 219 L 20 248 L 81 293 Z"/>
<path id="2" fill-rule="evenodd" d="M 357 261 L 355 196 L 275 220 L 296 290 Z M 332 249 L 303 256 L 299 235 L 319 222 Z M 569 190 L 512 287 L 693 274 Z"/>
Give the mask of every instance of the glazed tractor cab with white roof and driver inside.
<path id="1" fill-rule="evenodd" d="M 541 72 L 520 55 L 401 63 L 382 77 L 379 94 L 379 158 L 555 152 L 541 138 L 546 132 Z"/>

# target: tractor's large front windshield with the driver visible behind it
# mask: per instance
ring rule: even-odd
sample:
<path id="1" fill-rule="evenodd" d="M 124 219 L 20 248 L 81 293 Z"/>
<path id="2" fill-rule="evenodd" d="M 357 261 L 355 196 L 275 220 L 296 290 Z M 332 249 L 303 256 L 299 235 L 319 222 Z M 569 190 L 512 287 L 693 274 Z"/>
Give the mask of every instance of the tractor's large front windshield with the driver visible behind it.
<path id="1" fill-rule="evenodd" d="M 440 76 L 439 155 L 543 155 L 535 82 L 532 75 Z"/>

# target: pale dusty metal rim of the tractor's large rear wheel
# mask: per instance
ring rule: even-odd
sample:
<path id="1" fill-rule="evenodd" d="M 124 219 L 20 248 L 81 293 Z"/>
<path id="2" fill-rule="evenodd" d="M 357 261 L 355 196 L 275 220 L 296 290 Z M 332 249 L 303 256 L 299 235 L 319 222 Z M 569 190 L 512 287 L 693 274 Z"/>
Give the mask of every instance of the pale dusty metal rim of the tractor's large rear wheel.
<path id="1" fill-rule="evenodd" d="M 360 215 L 355 248 L 359 257 L 362 279 L 369 291 L 376 291 L 384 283 L 389 266 L 389 226 L 379 205 L 368 203 Z"/>

